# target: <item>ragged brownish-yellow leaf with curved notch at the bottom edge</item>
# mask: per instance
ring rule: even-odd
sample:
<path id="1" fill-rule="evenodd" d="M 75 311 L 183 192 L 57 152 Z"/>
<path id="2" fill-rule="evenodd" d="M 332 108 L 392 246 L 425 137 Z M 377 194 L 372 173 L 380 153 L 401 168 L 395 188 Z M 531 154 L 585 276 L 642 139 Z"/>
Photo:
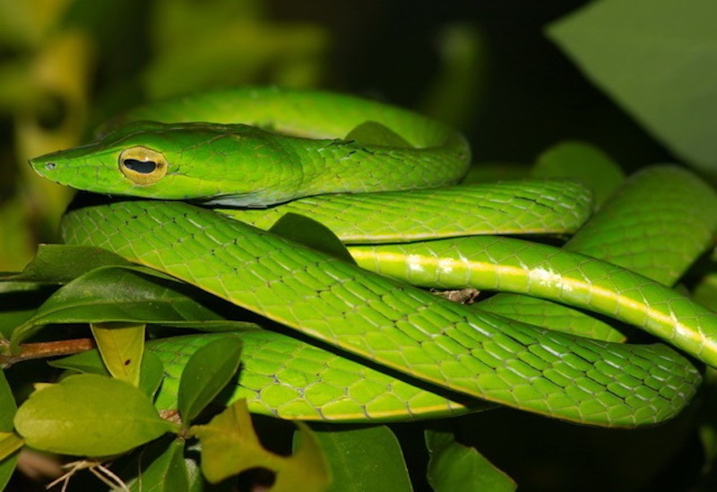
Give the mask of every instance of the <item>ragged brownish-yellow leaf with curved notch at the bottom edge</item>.
<path id="1" fill-rule="evenodd" d="M 202 470 L 212 483 L 258 467 L 276 473 L 272 492 L 294 491 L 297 484 L 301 484 L 302 492 L 324 491 L 331 481 L 324 455 L 306 424 L 296 424 L 300 445 L 289 457 L 262 447 L 245 400 L 234 402 L 206 426 L 191 427 L 190 432 L 202 442 Z"/>

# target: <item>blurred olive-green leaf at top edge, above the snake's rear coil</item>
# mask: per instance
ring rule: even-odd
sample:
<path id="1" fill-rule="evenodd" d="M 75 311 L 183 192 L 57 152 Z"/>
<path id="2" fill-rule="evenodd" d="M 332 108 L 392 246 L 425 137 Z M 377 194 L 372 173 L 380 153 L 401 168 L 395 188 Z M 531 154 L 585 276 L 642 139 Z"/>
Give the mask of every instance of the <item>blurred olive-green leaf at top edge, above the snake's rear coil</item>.
<path id="1" fill-rule="evenodd" d="M 143 81 L 150 99 L 263 81 L 315 86 L 328 47 L 312 24 L 263 20 L 261 2 L 160 1 L 152 12 L 155 56 Z M 187 70 L 187 67 L 192 67 Z"/>

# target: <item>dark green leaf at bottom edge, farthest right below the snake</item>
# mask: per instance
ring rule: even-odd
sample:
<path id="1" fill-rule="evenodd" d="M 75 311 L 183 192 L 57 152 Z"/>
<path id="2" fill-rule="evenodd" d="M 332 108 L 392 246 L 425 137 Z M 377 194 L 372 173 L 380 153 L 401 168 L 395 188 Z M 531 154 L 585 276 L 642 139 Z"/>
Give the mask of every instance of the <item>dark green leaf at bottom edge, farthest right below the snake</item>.
<path id="1" fill-rule="evenodd" d="M 471 447 L 454 440 L 453 433 L 427 430 L 430 453 L 428 483 L 436 492 L 480 490 L 513 491 L 515 482 Z"/>

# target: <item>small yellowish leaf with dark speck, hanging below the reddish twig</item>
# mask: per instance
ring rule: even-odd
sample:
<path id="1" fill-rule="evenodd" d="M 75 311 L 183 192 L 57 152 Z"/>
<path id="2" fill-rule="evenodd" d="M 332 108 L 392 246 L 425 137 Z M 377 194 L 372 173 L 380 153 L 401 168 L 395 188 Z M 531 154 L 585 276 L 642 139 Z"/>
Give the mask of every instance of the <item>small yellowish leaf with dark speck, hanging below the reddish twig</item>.
<path id="1" fill-rule="evenodd" d="M 109 374 L 139 386 L 145 325 L 91 323 L 90 327 Z"/>

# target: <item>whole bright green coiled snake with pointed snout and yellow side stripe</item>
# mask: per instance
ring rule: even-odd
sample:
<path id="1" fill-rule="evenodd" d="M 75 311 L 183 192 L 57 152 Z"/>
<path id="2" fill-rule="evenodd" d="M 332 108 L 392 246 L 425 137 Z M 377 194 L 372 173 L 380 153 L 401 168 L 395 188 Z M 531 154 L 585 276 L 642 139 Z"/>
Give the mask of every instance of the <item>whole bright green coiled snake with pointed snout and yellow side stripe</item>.
<path id="1" fill-rule="evenodd" d="M 683 169 L 648 168 L 588 220 L 577 183 L 454 186 L 469 162 L 460 134 L 410 111 L 250 88 L 138 108 L 99 141 L 30 164 L 65 186 L 151 199 L 68 211 L 65 242 L 317 341 L 235 334 L 245 349 L 229 398 L 252 411 L 365 422 L 488 402 L 601 426 L 674 417 L 701 382 L 683 354 L 717 367 L 717 315 L 667 287 L 713 244 L 713 190 Z M 263 230 L 287 212 L 324 223 L 358 265 Z M 574 237 L 563 248 L 506 237 L 528 233 Z M 510 293 L 467 306 L 421 287 Z M 620 343 L 583 311 L 669 345 Z M 216 336 L 150 344 L 167 374 L 160 408 L 188 354 Z"/>

